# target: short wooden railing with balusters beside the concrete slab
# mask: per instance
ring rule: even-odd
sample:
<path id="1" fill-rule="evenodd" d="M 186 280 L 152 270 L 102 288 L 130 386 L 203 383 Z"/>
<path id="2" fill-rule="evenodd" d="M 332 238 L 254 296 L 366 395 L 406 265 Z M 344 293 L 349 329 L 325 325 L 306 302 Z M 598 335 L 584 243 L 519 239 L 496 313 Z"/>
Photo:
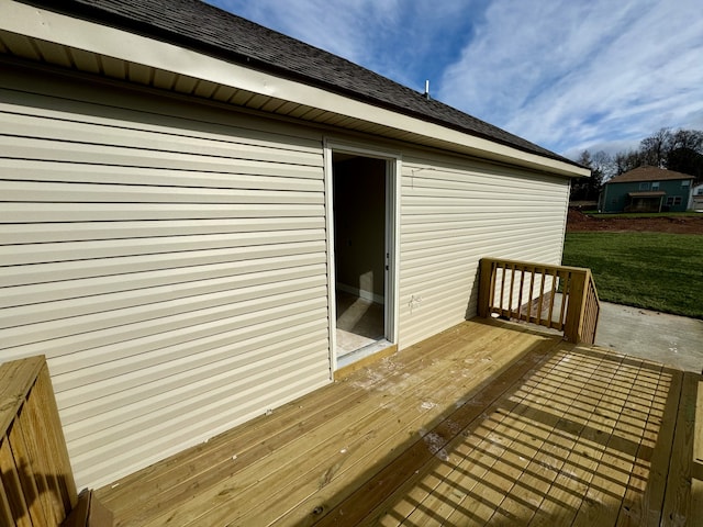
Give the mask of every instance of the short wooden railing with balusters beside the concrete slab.
<path id="1" fill-rule="evenodd" d="M 589 269 L 481 259 L 479 316 L 525 321 L 563 332 L 571 343 L 593 344 L 600 302 Z"/>

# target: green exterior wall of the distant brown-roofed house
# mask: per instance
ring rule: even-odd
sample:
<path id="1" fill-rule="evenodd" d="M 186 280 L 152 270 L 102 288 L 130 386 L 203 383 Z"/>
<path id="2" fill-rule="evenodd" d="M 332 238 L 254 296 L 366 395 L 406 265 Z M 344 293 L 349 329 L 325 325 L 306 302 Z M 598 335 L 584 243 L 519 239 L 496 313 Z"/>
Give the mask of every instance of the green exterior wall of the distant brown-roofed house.
<path id="1" fill-rule="evenodd" d="M 689 184 L 684 186 L 684 181 Z M 666 192 L 661 201 L 662 212 L 685 212 L 689 204 L 691 180 L 661 180 L 659 187 L 652 187 L 654 181 L 631 181 L 622 183 L 605 183 L 600 204 L 602 212 L 626 212 L 629 204 L 629 192 L 649 192 L 659 190 Z"/>

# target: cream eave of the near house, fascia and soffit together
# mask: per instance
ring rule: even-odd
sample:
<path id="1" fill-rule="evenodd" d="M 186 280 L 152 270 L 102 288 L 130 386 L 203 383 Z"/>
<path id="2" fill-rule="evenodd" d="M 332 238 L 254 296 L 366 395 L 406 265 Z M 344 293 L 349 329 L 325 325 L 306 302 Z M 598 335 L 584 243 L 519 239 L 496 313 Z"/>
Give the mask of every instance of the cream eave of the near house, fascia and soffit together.
<path id="1" fill-rule="evenodd" d="M 567 177 L 590 173 L 558 159 L 22 3 L 3 4 L 0 20 L 0 53 L 21 59 L 543 172 Z"/>

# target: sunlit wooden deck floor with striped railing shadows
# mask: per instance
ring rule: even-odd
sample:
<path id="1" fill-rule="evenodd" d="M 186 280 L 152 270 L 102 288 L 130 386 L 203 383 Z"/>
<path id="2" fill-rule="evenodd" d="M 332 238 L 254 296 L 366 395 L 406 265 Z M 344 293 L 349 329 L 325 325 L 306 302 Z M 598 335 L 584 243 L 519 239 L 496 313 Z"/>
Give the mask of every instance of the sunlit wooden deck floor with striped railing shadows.
<path id="1" fill-rule="evenodd" d="M 701 392 L 475 319 L 98 497 L 119 526 L 703 525 Z"/>

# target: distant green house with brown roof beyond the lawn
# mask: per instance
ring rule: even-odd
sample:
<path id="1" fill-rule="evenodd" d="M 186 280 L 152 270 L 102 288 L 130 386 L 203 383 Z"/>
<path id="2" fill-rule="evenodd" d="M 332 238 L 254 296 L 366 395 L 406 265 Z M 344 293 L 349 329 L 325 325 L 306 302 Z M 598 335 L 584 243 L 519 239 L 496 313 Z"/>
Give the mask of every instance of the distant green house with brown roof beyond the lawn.
<path id="1" fill-rule="evenodd" d="M 657 167 L 639 167 L 603 184 L 601 212 L 684 212 L 693 176 Z"/>

